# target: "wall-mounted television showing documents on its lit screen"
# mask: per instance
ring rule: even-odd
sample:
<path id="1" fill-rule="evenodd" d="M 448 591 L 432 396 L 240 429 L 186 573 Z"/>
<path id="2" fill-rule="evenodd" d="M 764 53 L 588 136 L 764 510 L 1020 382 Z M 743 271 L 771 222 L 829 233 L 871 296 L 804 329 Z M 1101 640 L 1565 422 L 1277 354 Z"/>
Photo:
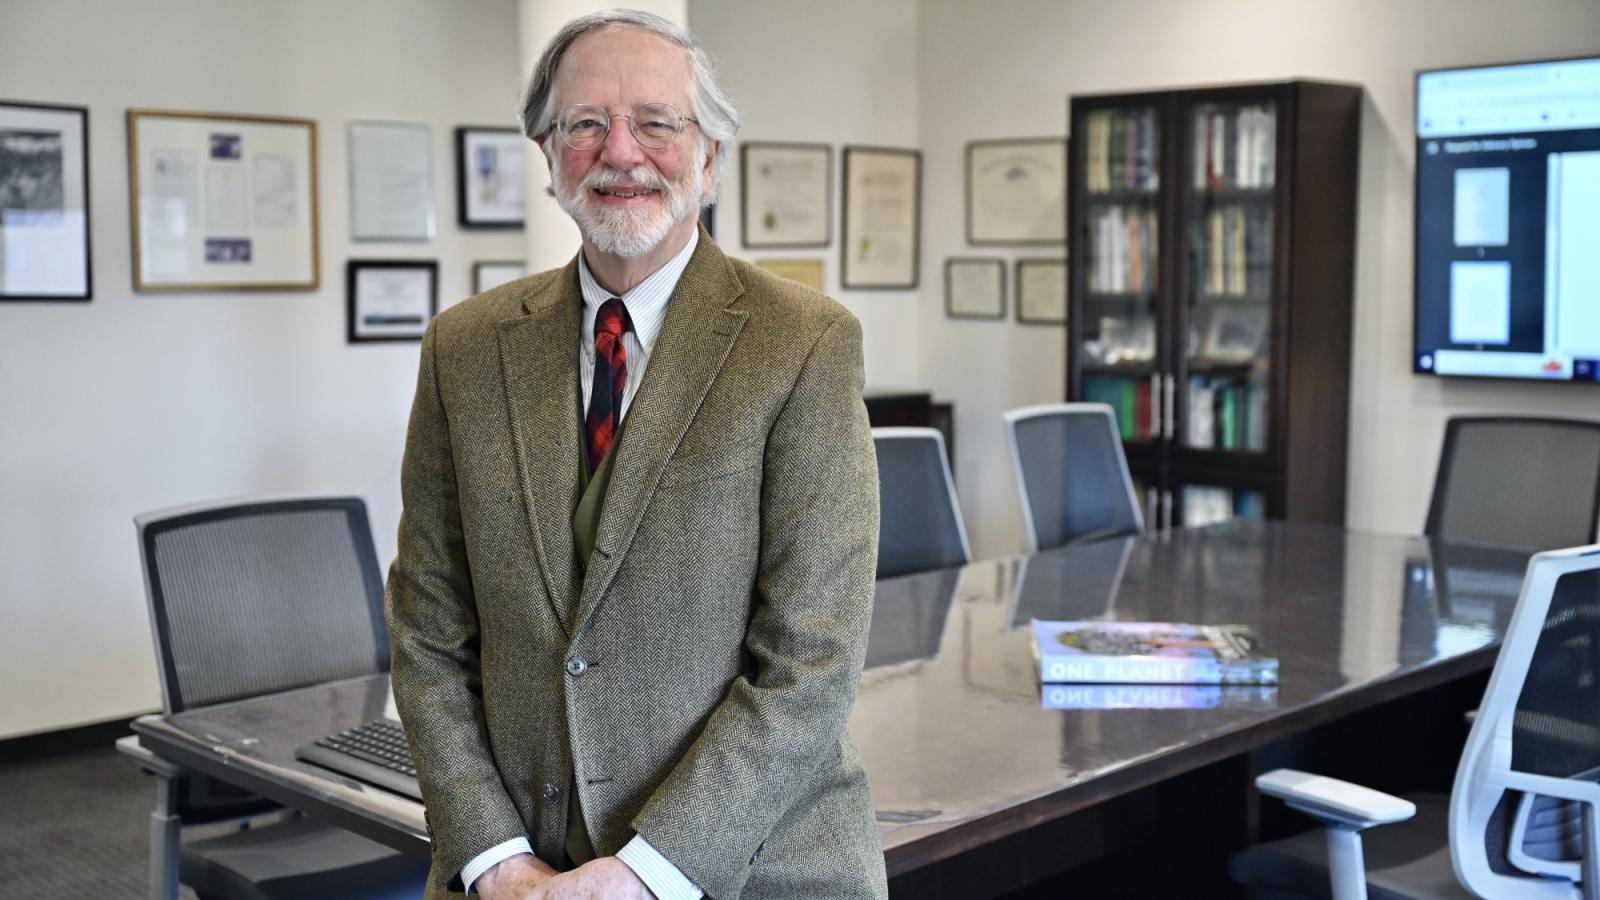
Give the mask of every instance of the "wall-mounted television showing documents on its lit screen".
<path id="1" fill-rule="evenodd" d="M 1416 77 L 1413 370 L 1600 381 L 1600 58 Z"/>

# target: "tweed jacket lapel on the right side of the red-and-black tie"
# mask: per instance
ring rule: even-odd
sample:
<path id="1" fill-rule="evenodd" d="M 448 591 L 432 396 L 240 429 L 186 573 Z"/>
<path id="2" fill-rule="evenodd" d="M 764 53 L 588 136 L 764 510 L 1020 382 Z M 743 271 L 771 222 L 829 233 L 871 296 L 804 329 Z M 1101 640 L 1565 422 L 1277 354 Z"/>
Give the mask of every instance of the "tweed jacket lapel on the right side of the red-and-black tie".
<path id="1" fill-rule="evenodd" d="M 595 551 L 584 573 L 573 634 L 582 633 L 611 586 L 661 471 L 694 421 L 706 391 L 744 328 L 749 314 L 726 309 L 742 293 L 733 266 L 701 231 L 699 245 L 667 301 L 667 317 L 645 368 L 645 381 L 627 410 L 627 434 L 616 445 L 618 458 L 600 508 Z"/>

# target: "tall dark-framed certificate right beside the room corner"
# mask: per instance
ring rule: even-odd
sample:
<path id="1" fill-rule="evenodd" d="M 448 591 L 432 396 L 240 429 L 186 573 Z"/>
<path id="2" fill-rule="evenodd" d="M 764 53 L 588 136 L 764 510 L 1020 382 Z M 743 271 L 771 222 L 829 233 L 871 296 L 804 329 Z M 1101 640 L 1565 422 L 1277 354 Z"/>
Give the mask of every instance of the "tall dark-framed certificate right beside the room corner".
<path id="1" fill-rule="evenodd" d="M 846 288 L 915 288 L 922 223 L 922 152 L 845 147 Z"/>

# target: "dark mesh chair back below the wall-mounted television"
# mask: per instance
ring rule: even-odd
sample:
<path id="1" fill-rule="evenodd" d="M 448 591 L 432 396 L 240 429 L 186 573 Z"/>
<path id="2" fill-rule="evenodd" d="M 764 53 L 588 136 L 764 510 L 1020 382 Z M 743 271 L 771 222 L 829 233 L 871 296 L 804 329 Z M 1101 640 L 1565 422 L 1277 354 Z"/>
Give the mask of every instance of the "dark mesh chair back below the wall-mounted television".
<path id="1" fill-rule="evenodd" d="M 1600 421 L 1458 416 L 1445 426 L 1429 535 L 1550 549 L 1597 540 Z"/>

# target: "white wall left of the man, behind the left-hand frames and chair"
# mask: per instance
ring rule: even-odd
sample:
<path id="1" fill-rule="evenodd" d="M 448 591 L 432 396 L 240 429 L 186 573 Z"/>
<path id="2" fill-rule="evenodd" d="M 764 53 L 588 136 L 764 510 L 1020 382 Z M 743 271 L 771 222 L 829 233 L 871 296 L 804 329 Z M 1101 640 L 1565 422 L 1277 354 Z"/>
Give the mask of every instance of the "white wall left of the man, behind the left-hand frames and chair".
<path id="1" fill-rule="evenodd" d="M 440 264 L 440 301 L 517 232 L 456 223 L 454 127 L 512 123 L 514 0 L 5 0 L 0 96 L 90 107 L 94 299 L 0 303 L 0 737 L 160 703 L 131 517 L 355 493 L 394 556 L 416 344 L 344 343 L 344 261 Z M 322 288 L 136 295 L 125 110 L 318 122 Z M 346 123 L 432 125 L 438 237 L 349 240 Z"/>

